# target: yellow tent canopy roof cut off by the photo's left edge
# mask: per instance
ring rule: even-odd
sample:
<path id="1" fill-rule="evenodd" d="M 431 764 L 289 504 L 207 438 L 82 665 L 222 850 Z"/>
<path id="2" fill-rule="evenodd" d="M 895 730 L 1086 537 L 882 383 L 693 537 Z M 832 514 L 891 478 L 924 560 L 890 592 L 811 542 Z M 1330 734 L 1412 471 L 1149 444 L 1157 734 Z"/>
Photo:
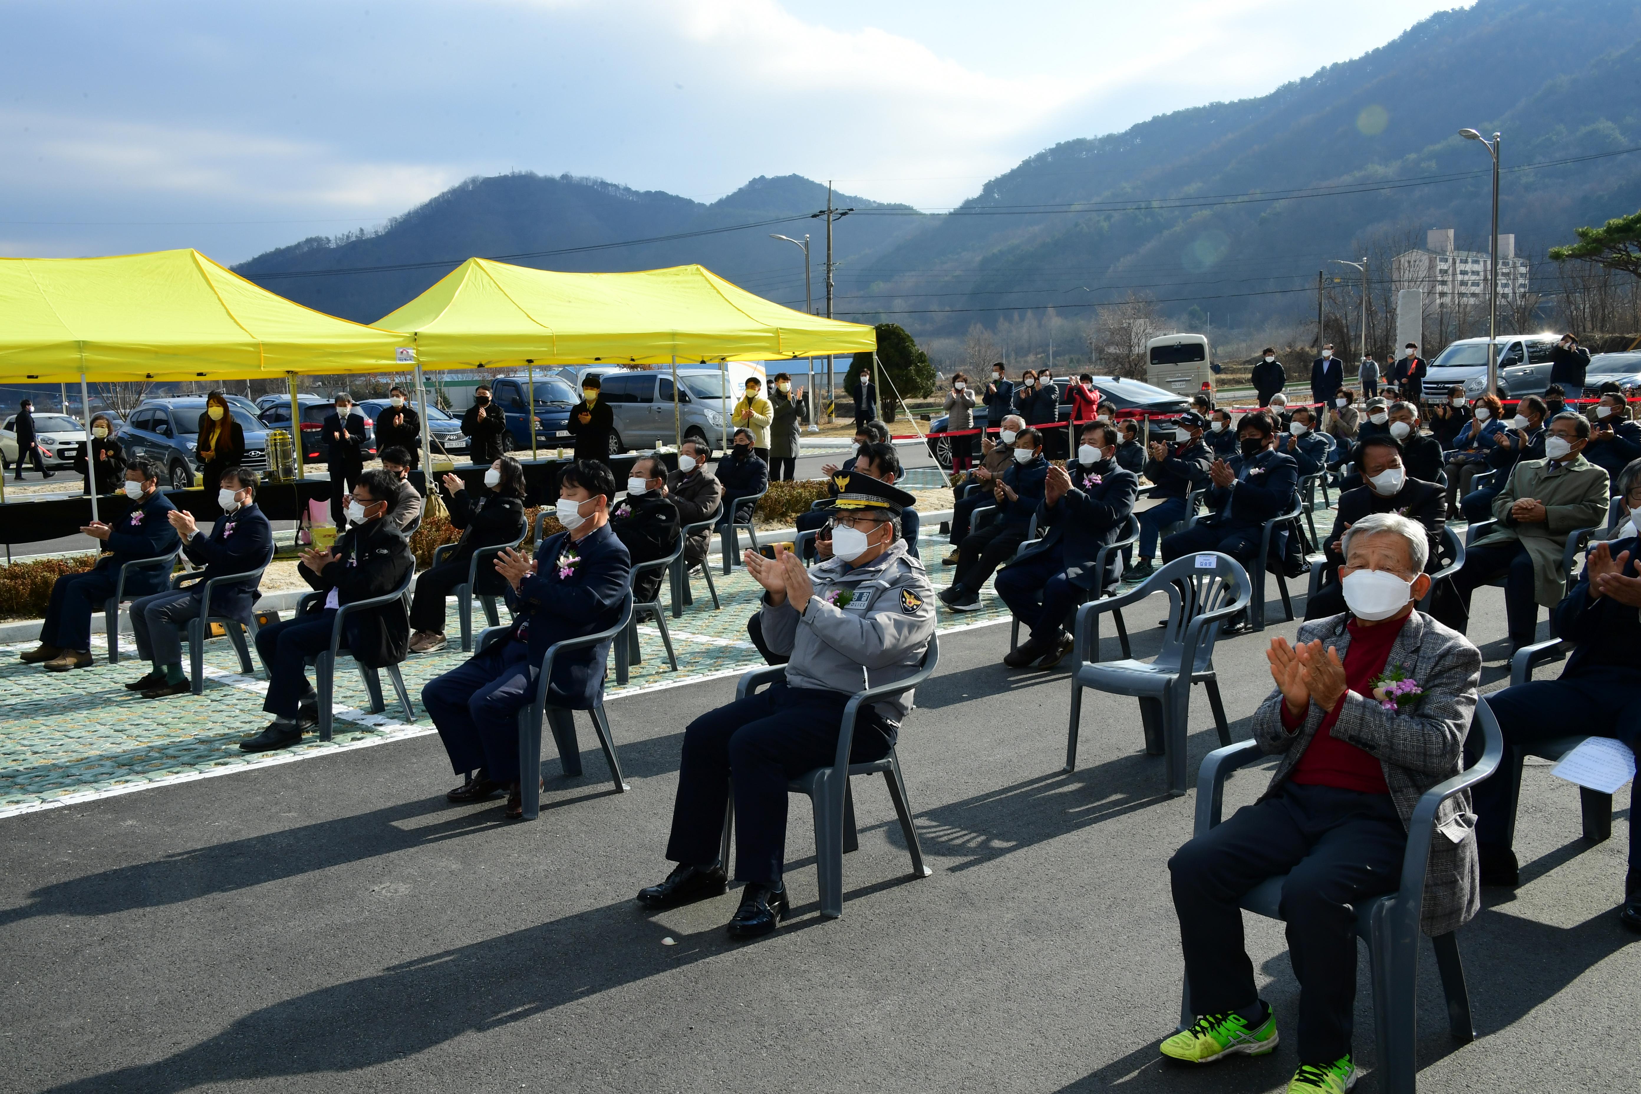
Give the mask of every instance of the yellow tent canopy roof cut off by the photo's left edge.
<path id="1" fill-rule="evenodd" d="M 391 372 L 402 335 L 292 303 L 199 251 L 0 259 L 0 382 Z"/>

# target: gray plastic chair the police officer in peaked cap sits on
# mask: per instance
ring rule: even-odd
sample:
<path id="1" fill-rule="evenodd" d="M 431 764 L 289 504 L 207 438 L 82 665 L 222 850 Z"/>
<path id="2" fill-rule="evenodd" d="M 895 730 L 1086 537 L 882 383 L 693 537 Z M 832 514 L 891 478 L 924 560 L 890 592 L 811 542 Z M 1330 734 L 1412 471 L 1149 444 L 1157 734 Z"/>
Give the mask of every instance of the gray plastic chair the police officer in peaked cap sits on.
<path id="1" fill-rule="evenodd" d="M 789 794 L 807 794 L 814 809 L 816 822 L 816 879 L 820 889 L 820 915 L 837 919 L 843 914 L 843 855 L 860 848 L 860 833 L 855 830 L 855 799 L 848 789 L 850 776 L 883 774 L 889 787 L 889 799 L 894 800 L 894 814 L 901 818 L 901 835 L 906 836 L 906 850 L 912 856 L 912 877 L 927 877 L 934 871 L 924 866 L 922 846 L 917 843 L 917 827 L 912 823 L 912 810 L 906 797 L 906 779 L 901 777 L 901 759 L 894 748 L 883 759 L 870 763 L 848 763 L 848 750 L 855 740 L 855 718 L 860 709 L 880 699 L 904 694 L 919 687 L 934 674 L 940 663 L 940 643 L 935 635 L 929 635 L 929 648 L 924 651 L 922 664 L 906 679 L 868 687 L 855 692 L 848 705 L 843 707 L 843 723 L 837 735 L 837 753 L 830 768 L 816 768 L 786 784 Z M 735 699 L 745 699 L 758 687 L 786 679 L 784 666 L 753 669 L 740 677 L 735 687 Z M 904 725 L 904 723 L 903 723 Z M 719 848 L 719 864 L 729 869 L 729 853 L 732 833 L 735 830 L 735 794 L 730 789 L 729 809 L 724 812 L 724 843 Z"/>

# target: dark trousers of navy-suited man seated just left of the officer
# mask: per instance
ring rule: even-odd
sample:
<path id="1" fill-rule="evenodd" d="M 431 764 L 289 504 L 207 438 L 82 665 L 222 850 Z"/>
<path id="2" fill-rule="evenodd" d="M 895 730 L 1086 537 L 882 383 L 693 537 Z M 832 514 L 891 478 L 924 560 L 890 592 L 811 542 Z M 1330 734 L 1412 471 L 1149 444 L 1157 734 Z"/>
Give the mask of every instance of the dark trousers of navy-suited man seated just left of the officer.
<path id="1" fill-rule="evenodd" d="M 427 682 L 422 705 L 456 774 L 484 768 L 497 782 L 519 781 L 519 712 L 540 672 L 530 646 L 507 640 Z"/>

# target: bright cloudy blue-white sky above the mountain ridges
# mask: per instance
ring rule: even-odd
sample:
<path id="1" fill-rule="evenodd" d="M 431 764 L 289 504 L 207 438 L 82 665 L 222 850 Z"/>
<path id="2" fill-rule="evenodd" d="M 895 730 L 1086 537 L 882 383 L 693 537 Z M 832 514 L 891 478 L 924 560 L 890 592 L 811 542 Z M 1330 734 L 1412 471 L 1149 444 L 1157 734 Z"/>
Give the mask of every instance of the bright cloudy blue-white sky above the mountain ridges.
<path id="1" fill-rule="evenodd" d="M 0 254 L 238 262 L 476 174 L 955 205 L 1454 0 L 0 0 Z"/>

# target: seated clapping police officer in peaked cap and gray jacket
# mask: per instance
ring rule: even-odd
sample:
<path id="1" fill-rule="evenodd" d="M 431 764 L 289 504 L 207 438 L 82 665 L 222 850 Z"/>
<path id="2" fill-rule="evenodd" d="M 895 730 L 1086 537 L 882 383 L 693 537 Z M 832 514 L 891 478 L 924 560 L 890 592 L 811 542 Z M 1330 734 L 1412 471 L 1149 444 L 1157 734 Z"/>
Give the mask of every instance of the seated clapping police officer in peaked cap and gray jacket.
<path id="1" fill-rule="evenodd" d="M 788 914 L 788 781 L 830 764 L 850 695 L 912 676 L 934 635 L 934 589 L 901 538 L 901 510 L 911 505 L 904 490 L 850 474 L 834 502 L 830 559 L 806 571 L 783 548 L 775 559 L 747 551 L 747 572 L 765 589 L 763 636 L 791 658 L 786 681 L 684 730 L 666 843 L 678 868 L 643 889 L 640 904 L 666 909 L 724 892 L 727 864 L 717 859 L 734 771 L 735 873 L 747 889 L 729 933 L 766 935 Z M 911 705 L 906 692 L 862 709 L 850 759 L 886 756 Z"/>

